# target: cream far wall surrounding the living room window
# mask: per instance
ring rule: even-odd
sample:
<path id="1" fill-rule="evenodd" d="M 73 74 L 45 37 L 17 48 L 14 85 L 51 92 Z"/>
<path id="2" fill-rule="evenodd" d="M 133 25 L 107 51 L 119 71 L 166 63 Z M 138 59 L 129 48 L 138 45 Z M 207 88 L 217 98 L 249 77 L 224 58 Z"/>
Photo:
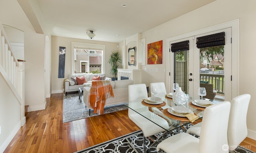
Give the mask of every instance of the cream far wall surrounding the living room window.
<path id="1" fill-rule="evenodd" d="M 52 36 L 52 69 L 51 69 L 52 70 L 52 93 L 63 92 L 64 79 L 68 78 L 68 75 L 73 74 L 71 72 L 71 42 L 105 45 L 105 53 L 104 53 L 105 54 L 105 59 L 104 59 L 105 74 L 106 74 L 106 77 L 110 77 L 110 78 L 113 77 L 112 75 L 110 75 L 111 65 L 109 65 L 107 62 L 112 51 L 114 50 L 121 51 L 120 47 L 117 48 L 118 43 Z M 66 47 L 64 78 L 58 78 L 60 46 Z"/>

